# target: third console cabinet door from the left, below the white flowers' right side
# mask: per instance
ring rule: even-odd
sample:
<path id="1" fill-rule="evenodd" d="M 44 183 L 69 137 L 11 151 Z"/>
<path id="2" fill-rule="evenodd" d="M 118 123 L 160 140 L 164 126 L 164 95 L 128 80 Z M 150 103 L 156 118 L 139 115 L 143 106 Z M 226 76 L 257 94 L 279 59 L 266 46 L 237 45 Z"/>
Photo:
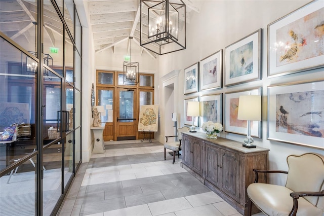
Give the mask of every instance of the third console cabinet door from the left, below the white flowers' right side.
<path id="1" fill-rule="evenodd" d="M 219 152 L 220 149 L 206 143 L 206 180 L 220 188 Z"/>

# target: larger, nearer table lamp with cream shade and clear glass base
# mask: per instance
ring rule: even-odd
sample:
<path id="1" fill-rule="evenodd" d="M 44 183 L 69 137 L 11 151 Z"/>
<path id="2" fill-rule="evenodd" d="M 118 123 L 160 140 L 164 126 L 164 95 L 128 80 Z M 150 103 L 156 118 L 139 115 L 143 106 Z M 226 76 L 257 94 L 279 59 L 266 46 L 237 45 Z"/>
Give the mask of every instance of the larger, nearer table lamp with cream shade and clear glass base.
<path id="1" fill-rule="evenodd" d="M 251 137 L 250 121 L 261 121 L 261 95 L 240 95 L 238 100 L 238 120 L 248 121 L 248 135 L 244 139 L 243 147 L 256 148 Z"/>

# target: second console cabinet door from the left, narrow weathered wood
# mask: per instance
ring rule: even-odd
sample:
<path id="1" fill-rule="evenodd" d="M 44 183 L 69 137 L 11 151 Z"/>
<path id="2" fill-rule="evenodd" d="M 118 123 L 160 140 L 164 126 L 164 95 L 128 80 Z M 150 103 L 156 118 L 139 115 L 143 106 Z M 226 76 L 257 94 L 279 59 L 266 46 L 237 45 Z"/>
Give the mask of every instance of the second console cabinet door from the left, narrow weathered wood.
<path id="1" fill-rule="evenodd" d="M 203 154 L 203 142 L 199 139 L 192 139 L 191 143 L 191 168 L 200 176 L 203 175 L 203 163 L 201 162 L 201 155 Z"/>

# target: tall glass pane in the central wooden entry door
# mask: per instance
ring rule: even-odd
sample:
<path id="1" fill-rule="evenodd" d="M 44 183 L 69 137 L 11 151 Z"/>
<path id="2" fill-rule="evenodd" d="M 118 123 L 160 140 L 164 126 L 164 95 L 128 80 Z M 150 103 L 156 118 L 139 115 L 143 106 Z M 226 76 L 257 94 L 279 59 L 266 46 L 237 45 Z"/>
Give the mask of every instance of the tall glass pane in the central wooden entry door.
<path id="1" fill-rule="evenodd" d="M 134 118 L 134 91 L 119 92 L 119 119 L 120 122 L 133 122 Z"/>

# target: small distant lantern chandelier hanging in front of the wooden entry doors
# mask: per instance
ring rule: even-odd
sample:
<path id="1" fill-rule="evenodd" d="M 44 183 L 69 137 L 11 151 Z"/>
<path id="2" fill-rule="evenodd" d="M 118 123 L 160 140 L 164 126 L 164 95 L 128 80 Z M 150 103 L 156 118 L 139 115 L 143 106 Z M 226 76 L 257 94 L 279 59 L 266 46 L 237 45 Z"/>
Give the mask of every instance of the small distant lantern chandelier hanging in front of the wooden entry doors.
<path id="1" fill-rule="evenodd" d="M 132 39 L 131 40 L 131 56 L 130 61 L 124 61 L 124 84 L 136 85 L 138 84 L 138 62 L 132 62 Z"/>

